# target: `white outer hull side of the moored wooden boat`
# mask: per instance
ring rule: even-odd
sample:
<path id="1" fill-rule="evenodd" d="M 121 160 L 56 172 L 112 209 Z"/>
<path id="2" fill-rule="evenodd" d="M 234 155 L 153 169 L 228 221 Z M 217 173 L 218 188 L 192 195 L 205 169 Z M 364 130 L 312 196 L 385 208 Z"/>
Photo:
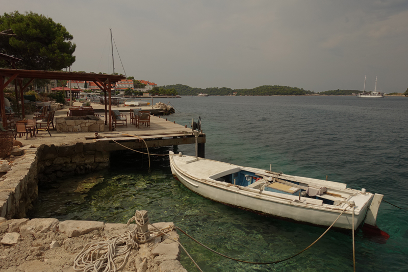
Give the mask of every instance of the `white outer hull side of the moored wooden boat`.
<path id="1" fill-rule="evenodd" d="M 261 194 L 253 193 L 245 190 L 242 186 L 222 186 L 216 183 L 205 182 L 202 179 L 195 179 L 186 175 L 182 169 L 177 167 L 171 156 L 170 166 L 173 176 L 189 190 L 207 199 L 254 213 L 328 227 L 333 224 L 342 210 L 312 207 L 313 205 L 296 204 L 293 201 L 279 201 L 265 191 Z M 367 213 L 367 206 L 370 203 L 370 201 L 367 202 L 362 207 L 361 212 L 354 215 L 355 230 L 363 224 Z M 352 213 L 350 208 L 340 216 L 334 227 L 345 230 L 352 229 Z"/>

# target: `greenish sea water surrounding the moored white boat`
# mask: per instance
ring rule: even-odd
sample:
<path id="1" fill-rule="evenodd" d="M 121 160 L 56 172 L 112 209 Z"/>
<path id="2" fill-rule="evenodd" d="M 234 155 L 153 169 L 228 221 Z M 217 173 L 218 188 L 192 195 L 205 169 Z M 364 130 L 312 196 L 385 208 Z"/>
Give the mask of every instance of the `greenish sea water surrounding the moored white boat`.
<path id="1" fill-rule="evenodd" d="M 160 100 L 155 100 L 155 103 Z M 163 99 L 171 121 L 201 117 L 206 158 L 285 174 L 346 183 L 384 194 L 377 225 L 385 242 L 355 237 L 357 271 L 408 270 L 408 98 L 355 96 L 183 96 Z M 150 150 L 194 155 L 194 145 Z M 109 169 L 41 188 L 32 217 L 125 223 L 136 210 L 151 222 L 171 221 L 210 248 L 242 260 L 287 258 L 314 242 L 324 228 L 296 224 L 203 199 L 173 179 L 167 157 L 118 152 Z M 79 180 L 81 179 L 81 180 Z M 80 185 L 78 185 L 80 182 Z M 329 231 L 309 250 L 271 265 L 215 255 L 180 233 L 203 271 L 352 271 L 350 233 Z M 186 254 L 182 264 L 198 271 Z"/>

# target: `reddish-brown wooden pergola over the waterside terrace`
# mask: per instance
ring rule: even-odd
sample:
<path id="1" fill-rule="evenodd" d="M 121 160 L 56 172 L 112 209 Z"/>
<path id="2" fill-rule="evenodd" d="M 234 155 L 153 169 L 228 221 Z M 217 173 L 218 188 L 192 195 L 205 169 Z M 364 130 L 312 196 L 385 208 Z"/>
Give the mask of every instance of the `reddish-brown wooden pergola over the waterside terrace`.
<path id="1" fill-rule="evenodd" d="M 12 57 L 10 57 L 12 58 Z M 15 58 L 14 58 L 15 59 Z M 15 59 L 19 60 L 19 59 Z M 12 64 L 12 66 L 14 66 Z M 33 82 L 34 79 L 47 80 L 78 80 L 78 81 L 92 81 L 105 94 L 105 124 L 109 123 L 109 130 L 112 131 L 112 104 L 111 104 L 111 89 L 113 84 L 124 80 L 125 76 L 118 75 L 104 75 L 100 73 L 84 73 L 84 72 L 60 72 L 60 71 L 42 71 L 42 70 L 18 70 L 18 69 L 0 69 L 0 108 L 3 117 L 3 124 L 7 123 L 6 110 L 4 104 L 4 88 L 13 80 L 15 81 L 16 99 L 18 104 L 17 83 L 20 87 L 21 97 L 21 113 L 24 117 L 24 97 L 23 91 Z M 7 81 L 6 81 L 7 79 Z M 28 83 L 22 85 L 22 79 L 29 79 Z M 108 98 L 107 98 L 108 94 Z M 107 108 L 109 107 L 109 109 Z M 108 114 L 109 110 L 109 114 Z"/>

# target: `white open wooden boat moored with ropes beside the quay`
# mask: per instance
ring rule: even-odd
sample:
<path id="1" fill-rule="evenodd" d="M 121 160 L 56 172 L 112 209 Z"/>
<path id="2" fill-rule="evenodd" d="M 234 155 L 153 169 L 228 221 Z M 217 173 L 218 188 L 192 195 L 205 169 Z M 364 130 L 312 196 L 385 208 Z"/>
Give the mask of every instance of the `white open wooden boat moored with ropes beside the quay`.
<path id="1" fill-rule="evenodd" d="M 191 191 L 229 206 L 317 226 L 330 226 L 354 202 L 354 229 L 376 228 L 381 194 L 344 183 L 285 175 L 170 152 L 173 177 Z M 352 208 L 334 228 L 352 229 Z"/>

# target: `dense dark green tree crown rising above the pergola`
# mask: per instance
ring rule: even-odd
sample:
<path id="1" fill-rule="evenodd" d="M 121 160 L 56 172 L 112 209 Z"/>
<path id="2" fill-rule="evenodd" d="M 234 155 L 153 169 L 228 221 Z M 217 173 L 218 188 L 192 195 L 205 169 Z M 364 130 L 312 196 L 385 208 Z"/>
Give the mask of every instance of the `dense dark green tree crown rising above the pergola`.
<path id="1" fill-rule="evenodd" d="M 61 70 L 75 61 L 75 43 L 52 18 L 18 11 L 0 16 L 0 53 L 22 59 L 19 69 Z M 0 67 L 8 67 L 5 62 Z"/>

